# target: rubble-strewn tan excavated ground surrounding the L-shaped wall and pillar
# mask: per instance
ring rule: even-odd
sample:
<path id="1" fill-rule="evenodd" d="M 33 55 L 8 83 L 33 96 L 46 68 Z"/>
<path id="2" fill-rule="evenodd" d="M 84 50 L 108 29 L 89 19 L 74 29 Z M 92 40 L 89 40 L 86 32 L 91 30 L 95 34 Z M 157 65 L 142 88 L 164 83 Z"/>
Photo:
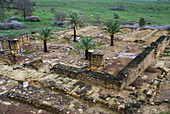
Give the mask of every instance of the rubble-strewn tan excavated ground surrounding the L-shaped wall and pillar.
<path id="1" fill-rule="evenodd" d="M 105 68 L 100 72 L 113 76 L 160 36 L 168 36 L 167 31 L 124 28 L 124 34 L 116 34 L 115 46 L 110 46 L 109 35 L 102 31 L 102 27 L 98 26 L 78 29 L 77 38 L 81 35 L 95 37 L 98 45 L 95 50 L 105 54 Z M 2 112 L 150 114 L 170 111 L 169 45 L 129 85 L 130 89 L 119 91 L 52 72 L 50 69 L 58 63 L 80 69 L 88 63 L 84 52 L 75 48 L 73 31 L 59 31 L 54 35 L 58 40 L 48 42 L 47 53 L 43 52 L 42 42 L 34 43 L 32 40 L 31 45 L 21 46 L 16 64 L 7 65 L 1 61 L 0 105 L 5 107 Z M 38 69 L 24 65 L 32 61 L 39 61 L 35 65 Z M 29 87 L 23 88 L 26 79 Z"/>

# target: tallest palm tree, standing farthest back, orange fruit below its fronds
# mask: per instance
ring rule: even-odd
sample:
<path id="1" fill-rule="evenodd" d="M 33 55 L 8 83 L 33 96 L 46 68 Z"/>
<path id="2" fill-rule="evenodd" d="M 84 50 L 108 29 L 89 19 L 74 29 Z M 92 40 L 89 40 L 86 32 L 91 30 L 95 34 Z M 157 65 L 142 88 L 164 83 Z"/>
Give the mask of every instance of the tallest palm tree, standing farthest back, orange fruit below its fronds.
<path id="1" fill-rule="evenodd" d="M 76 42 L 76 26 L 78 24 L 85 25 L 84 22 L 82 21 L 81 16 L 79 15 L 78 12 L 72 11 L 72 13 L 69 16 L 68 23 L 66 25 L 72 25 L 74 29 L 74 42 Z"/>

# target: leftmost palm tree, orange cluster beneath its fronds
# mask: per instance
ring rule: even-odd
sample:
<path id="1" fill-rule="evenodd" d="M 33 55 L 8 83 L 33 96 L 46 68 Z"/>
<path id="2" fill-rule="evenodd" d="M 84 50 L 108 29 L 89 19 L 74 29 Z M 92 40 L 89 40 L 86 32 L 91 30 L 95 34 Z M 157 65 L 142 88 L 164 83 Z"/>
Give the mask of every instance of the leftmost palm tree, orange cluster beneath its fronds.
<path id="1" fill-rule="evenodd" d="M 56 39 L 52 37 L 52 31 L 50 28 L 42 28 L 42 27 L 39 31 L 39 35 L 36 37 L 38 38 L 37 40 L 44 41 L 44 52 L 47 52 L 47 41 L 50 41 L 51 39 Z"/>

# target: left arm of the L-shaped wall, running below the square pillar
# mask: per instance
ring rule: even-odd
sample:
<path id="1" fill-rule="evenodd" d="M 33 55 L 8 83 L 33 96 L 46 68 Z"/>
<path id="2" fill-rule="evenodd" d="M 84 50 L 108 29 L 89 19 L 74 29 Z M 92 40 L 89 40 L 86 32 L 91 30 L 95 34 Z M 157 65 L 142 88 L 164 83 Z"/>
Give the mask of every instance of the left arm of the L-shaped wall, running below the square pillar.
<path id="1" fill-rule="evenodd" d="M 91 70 L 56 64 L 51 68 L 51 71 L 57 74 L 65 75 L 70 78 L 88 81 L 91 83 L 99 84 L 103 87 L 118 88 L 118 79 L 110 74 L 103 74 Z"/>

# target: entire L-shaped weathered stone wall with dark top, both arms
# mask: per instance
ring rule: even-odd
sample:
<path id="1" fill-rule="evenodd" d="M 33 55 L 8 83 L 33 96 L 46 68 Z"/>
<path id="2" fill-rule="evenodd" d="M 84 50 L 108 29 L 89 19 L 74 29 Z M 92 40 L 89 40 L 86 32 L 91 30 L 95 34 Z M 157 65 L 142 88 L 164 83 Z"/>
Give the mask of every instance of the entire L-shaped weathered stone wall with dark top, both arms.
<path id="1" fill-rule="evenodd" d="M 136 78 L 159 57 L 160 53 L 169 45 L 169 40 L 170 36 L 161 36 L 156 42 L 152 42 L 150 47 L 143 50 L 142 53 L 133 59 L 116 76 L 62 64 L 56 64 L 51 71 L 103 87 L 122 90 L 126 85 L 135 81 Z"/>

